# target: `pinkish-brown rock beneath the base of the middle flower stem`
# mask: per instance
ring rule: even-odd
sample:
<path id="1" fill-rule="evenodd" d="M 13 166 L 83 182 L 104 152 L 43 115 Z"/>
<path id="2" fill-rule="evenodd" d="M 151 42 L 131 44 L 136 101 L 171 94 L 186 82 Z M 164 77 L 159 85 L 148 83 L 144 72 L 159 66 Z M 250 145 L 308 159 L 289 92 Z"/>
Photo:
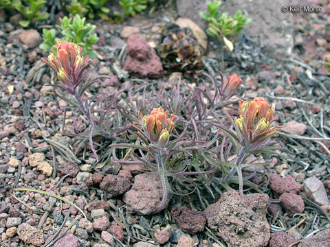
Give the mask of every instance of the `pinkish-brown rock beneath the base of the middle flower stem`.
<path id="1" fill-rule="evenodd" d="M 143 215 L 158 213 L 167 207 L 171 198 L 171 195 L 168 195 L 164 207 L 159 208 L 162 202 L 162 191 L 159 176 L 140 174 L 135 176 L 134 184 L 129 191 L 124 193 L 123 200 L 131 210 Z"/>

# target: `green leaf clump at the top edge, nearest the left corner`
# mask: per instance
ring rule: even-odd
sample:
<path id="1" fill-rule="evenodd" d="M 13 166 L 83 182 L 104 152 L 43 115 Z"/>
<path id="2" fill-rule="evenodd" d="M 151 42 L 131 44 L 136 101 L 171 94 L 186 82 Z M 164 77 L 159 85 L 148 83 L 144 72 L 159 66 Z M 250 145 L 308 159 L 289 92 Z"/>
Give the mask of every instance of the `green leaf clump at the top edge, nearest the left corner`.
<path id="1" fill-rule="evenodd" d="M 34 23 L 36 21 L 43 21 L 48 18 L 50 14 L 47 12 L 41 12 L 40 9 L 43 7 L 43 5 L 46 3 L 45 0 L 27 0 L 25 1 L 28 3 L 28 5 L 23 5 L 21 1 L 13 1 L 12 5 L 14 8 L 23 14 L 26 19 L 19 21 L 19 25 L 22 27 L 28 27 L 30 23 Z"/>

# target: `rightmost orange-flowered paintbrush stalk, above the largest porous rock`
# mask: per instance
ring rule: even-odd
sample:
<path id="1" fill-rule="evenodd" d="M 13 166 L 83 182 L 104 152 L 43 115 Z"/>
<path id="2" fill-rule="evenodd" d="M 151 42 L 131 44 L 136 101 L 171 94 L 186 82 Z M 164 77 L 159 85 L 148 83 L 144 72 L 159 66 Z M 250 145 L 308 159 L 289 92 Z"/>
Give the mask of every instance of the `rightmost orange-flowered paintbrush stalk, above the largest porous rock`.
<path id="1" fill-rule="evenodd" d="M 232 121 L 234 131 L 218 126 L 228 137 L 230 147 L 236 152 L 234 163 L 228 163 L 221 151 L 220 158 L 214 159 L 203 155 L 208 162 L 213 165 L 232 167 L 228 174 L 225 174 L 221 183 L 227 183 L 228 180 L 237 172 L 239 178 L 239 191 L 243 195 L 243 174 L 242 168 L 255 165 L 264 165 L 256 163 L 246 163 L 249 156 L 258 153 L 277 154 L 274 150 L 279 148 L 272 147 L 274 142 L 270 141 L 280 126 L 273 126 L 274 106 L 271 106 L 263 97 L 255 97 L 251 102 L 243 101 L 239 103 L 239 117 Z"/>

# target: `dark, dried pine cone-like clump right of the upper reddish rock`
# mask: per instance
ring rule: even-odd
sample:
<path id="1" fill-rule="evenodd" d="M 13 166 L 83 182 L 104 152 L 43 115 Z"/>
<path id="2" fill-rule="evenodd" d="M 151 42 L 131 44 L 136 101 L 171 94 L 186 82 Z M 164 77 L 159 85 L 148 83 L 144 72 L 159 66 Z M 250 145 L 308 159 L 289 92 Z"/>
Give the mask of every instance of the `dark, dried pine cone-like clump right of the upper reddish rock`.
<path id="1" fill-rule="evenodd" d="M 171 71 L 191 73 L 201 68 L 201 47 L 189 27 L 181 28 L 170 24 L 165 28 L 161 45 L 160 57 L 164 67 Z"/>

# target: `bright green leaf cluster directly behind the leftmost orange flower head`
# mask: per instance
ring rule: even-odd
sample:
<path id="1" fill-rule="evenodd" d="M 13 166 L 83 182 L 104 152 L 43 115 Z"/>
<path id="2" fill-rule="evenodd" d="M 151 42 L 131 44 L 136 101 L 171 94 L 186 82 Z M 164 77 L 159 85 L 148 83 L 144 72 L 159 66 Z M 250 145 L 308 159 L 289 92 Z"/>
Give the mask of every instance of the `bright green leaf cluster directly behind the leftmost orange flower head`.
<path id="1" fill-rule="evenodd" d="M 56 25 L 61 30 L 63 38 L 56 40 L 56 30 L 43 29 L 44 43 L 40 45 L 40 49 L 50 50 L 56 54 L 56 43 L 58 41 L 69 41 L 83 47 L 83 56 L 89 56 L 89 58 L 95 58 L 96 54 L 91 49 L 91 46 L 98 42 L 98 35 L 91 34 L 96 25 L 85 23 L 86 18 L 81 18 L 78 14 L 74 18 L 67 18 L 67 16 L 60 18 L 61 25 Z"/>

